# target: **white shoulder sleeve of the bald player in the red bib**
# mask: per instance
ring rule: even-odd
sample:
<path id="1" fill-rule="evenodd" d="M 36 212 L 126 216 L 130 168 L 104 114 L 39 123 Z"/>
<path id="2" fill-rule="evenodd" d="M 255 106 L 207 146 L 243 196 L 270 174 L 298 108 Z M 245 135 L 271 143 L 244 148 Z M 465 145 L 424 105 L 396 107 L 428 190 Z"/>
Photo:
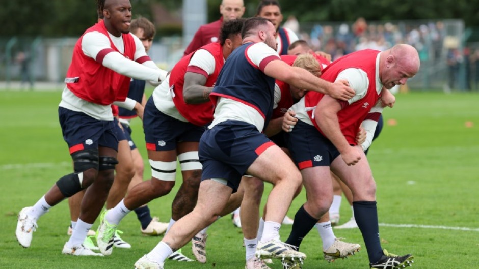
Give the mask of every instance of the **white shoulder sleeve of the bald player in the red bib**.
<path id="1" fill-rule="evenodd" d="M 341 71 L 335 82 L 338 80 L 348 80 L 349 85 L 356 92 L 353 98 L 348 100 L 349 104 L 352 104 L 364 96 L 366 96 L 367 88 L 369 87 L 369 79 L 366 72 L 358 68 L 348 68 Z"/>

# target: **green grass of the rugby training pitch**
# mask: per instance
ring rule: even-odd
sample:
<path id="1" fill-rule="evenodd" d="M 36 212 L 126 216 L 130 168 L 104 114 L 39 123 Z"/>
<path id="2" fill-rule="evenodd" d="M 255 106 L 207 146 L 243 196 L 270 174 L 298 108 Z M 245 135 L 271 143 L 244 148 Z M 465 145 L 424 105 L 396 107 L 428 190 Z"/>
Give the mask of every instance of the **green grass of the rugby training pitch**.
<path id="1" fill-rule="evenodd" d="M 38 221 L 32 246 L 21 248 L 14 230 L 16 215 L 34 204 L 57 180 L 71 172 L 70 157 L 58 123 L 60 92 L 0 91 L 2 131 L 0 132 L 0 268 L 132 268 L 161 237 L 143 236 L 135 214 L 121 223 L 123 238 L 130 250 L 116 249 L 103 258 L 71 257 L 61 254 L 68 240 L 69 212 L 66 202 L 50 210 Z M 477 94 L 409 93 L 397 96 L 393 109 L 384 111 L 387 122 L 372 145 L 368 158 L 378 185 L 378 213 L 381 223 L 467 227 L 475 230 L 380 227 L 383 247 L 392 253 L 412 253 L 413 268 L 477 268 L 479 211 L 477 183 L 479 168 L 479 110 Z M 466 128 L 465 122 L 475 124 Z M 142 146 L 141 123 L 135 121 L 134 139 Z M 34 165 L 36 164 L 36 165 Z M 145 177 L 150 175 L 146 164 Z M 178 180 L 180 182 L 180 179 Z M 179 184 L 175 188 L 178 187 Z M 270 190 L 270 186 L 266 188 Z M 174 191 L 150 203 L 154 216 L 168 221 Z M 294 201 L 289 216 L 304 202 L 304 192 Z M 341 223 L 351 216 L 343 200 Z M 97 223 L 94 224 L 96 228 Z M 287 237 L 290 226 L 283 226 Z M 229 217 L 209 229 L 208 262 L 177 263 L 166 268 L 243 268 L 244 248 L 240 229 Z M 337 237 L 364 246 L 359 230 L 335 230 Z M 192 257 L 191 244 L 183 253 Z M 303 268 L 367 268 L 363 251 L 350 259 L 328 264 L 322 258 L 321 240 L 312 231 L 302 251 L 308 255 Z M 271 266 L 281 268 L 279 262 Z"/>

